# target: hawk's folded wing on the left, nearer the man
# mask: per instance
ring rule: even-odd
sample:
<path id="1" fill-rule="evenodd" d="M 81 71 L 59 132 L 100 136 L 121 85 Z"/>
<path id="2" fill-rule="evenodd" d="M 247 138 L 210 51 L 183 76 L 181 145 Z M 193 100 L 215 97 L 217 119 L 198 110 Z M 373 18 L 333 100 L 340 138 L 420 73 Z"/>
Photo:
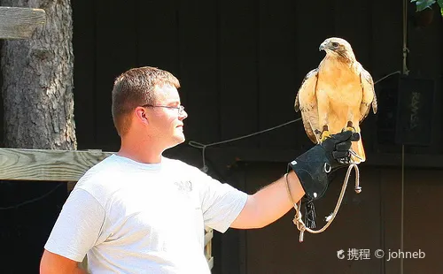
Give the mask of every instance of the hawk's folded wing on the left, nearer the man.
<path id="1" fill-rule="evenodd" d="M 295 111 L 301 111 L 301 118 L 307 137 L 314 143 L 318 143 L 319 141 L 319 137 L 315 134 L 315 131 L 320 132 L 320 127 L 318 126 L 317 97 L 315 95 L 317 77 L 318 69 L 307 73 L 307 76 L 301 83 L 294 103 Z"/>

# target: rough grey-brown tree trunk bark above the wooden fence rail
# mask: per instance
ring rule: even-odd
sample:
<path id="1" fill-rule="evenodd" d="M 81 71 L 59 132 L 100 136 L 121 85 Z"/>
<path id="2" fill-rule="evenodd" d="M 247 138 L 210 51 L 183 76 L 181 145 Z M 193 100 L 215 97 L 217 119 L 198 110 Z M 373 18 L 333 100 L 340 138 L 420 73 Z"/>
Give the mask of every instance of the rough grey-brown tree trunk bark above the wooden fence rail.
<path id="1" fill-rule="evenodd" d="M 30 39 L 4 41 L 4 146 L 76 149 L 70 1 L 7 0 L 2 4 L 46 11 L 45 24 Z"/>

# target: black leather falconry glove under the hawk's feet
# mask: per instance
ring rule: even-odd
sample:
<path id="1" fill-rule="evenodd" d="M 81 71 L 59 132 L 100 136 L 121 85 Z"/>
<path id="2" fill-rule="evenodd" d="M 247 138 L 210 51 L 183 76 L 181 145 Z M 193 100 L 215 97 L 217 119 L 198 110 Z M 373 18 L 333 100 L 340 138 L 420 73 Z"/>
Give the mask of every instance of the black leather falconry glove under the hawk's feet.
<path id="1" fill-rule="evenodd" d="M 359 140 L 360 134 L 351 131 L 332 134 L 289 164 L 305 190 L 304 200 L 307 201 L 307 206 L 312 207 L 311 209 L 307 208 L 307 211 L 312 211 L 310 212 L 311 217 L 307 212 L 307 217 L 312 219 L 310 220 L 312 223 L 315 218 L 312 202 L 320 199 L 326 192 L 330 172 L 350 164 L 351 142 Z M 315 223 L 308 226 L 315 227 Z"/>

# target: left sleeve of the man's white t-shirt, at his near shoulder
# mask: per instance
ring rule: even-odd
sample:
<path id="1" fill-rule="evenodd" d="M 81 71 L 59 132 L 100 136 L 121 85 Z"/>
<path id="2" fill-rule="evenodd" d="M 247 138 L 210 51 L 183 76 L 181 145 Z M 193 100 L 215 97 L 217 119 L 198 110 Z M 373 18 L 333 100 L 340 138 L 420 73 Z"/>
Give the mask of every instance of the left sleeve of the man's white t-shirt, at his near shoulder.
<path id="1" fill-rule="evenodd" d="M 95 245 L 105 222 L 105 209 L 87 191 L 74 188 L 44 248 L 76 262 Z"/>

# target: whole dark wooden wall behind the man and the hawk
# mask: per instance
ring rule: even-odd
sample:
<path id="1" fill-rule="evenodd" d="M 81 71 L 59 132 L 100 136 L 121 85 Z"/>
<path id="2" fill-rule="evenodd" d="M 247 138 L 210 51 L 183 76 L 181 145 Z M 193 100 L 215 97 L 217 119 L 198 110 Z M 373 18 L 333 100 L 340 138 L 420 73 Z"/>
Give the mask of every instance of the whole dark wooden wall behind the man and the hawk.
<path id="1" fill-rule="evenodd" d="M 110 111 L 111 89 L 113 79 L 134 66 L 157 66 L 177 76 L 189 114 L 184 127 L 187 140 L 206 144 L 299 118 L 293 110 L 296 92 L 306 73 L 323 58 L 318 46 L 327 37 L 339 36 L 350 42 L 374 80 L 402 70 L 400 0 L 140 0 L 128 4 L 95 0 L 74 1 L 73 6 L 75 118 L 80 149 L 119 148 Z M 406 261 L 404 265 L 405 273 L 422 269 L 439 273 L 443 269 L 437 258 L 441 240 L 433 238 L 436 232 L 426 234 L 418 227 L 441 225 L 432 217 L 438 215 L 439 205 L 421 195 L 424 189 L 435 196 L 443 193 L 437 179 L 441 172 L 414 167 L 442 167 L 438 163 L 442 151 L 439 105 L 443 29 L 437 10 L 430 26 L 416 27 L 413 6 L 409 8 L 409 75 L 435 80 L 436 95 L 431 146 L 405 148 L 408 155 L 434 155 L 431 159 L 406 159 L 405 248 L 421 248 L 429 255 L 426 260 Z M 352 186 L 348 187 L 330 230 L 321 235 L 307 234 L 306 242 L 299 244 L 289 214 L 263 230 L 215 233 L 214 273 L 400 272 L 399 262 L 375 258 L 339 261 L 336 256 L 342 248 L 400 248 L 401 147 L 379 141 L 379 134 L 395 134 L 389 126 L 387 131 L 385 127 L 380 130 L 385 119 L 396 115 L 395 98 L 392 101 L 392 95 L 380 94 L 391 86 L 383 85 L 380 82 L 376 86 L 383 121 L 370 114 L 362 125 L 369 156 L 361 169 L 364 191 L 356 195 Z M 206 164 L 210 175 L 253 193 L 283 174 L 285 163 L 311 146 L 301 123 L 296 122 L 208 148 Z M 380 155 L 384 152 L 389 154 Z M 186 143 L 168 153 L 190 164 L 202 164 L 201 152 Z M 340 183 L 337 179 L 333 193 L 338 194 Z M 328 214 L 323 211 L 332 209 L 335 201 L 331 194 L 321 203 L 319 216 Z M 423 217 L 416 216 L 424 204 L 431 210 Z M 419 237 L 424 240 L 417 240 Z"/>

